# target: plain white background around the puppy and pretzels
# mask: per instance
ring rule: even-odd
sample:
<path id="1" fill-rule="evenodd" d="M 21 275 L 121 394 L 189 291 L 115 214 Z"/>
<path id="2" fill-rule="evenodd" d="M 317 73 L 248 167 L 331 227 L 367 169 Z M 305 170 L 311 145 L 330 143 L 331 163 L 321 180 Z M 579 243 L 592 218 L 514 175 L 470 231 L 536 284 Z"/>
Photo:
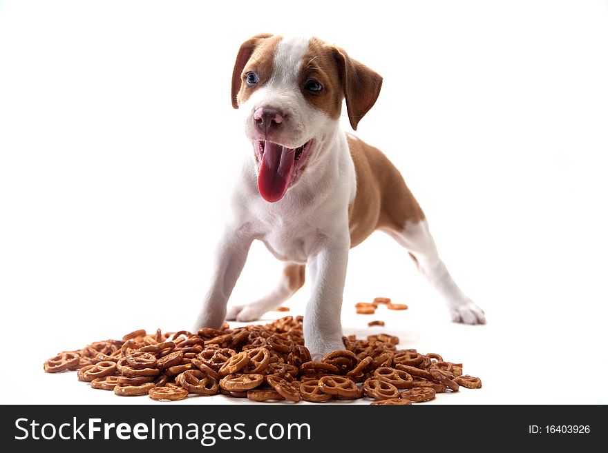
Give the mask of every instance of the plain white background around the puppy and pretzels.
<path id="1" fill-rule="evenodd" d="M 151 402 L 42 363 L 192 327 L 250 158 L 229 87 L 258 32 L 321 37 L 383 75 L 357 134 L 401 170 L 488 318 L 450 323 L 376 233 L 350 255 L 344 333 L 399 334 L 484 382 L 433 403 L 607 403 L 608 4 L 574 0 L 0 1 L 2 403 Z M 231 300 L 280 270 L 254 245 Z M 410 310 L 353 314 L 374 296 Z"/>

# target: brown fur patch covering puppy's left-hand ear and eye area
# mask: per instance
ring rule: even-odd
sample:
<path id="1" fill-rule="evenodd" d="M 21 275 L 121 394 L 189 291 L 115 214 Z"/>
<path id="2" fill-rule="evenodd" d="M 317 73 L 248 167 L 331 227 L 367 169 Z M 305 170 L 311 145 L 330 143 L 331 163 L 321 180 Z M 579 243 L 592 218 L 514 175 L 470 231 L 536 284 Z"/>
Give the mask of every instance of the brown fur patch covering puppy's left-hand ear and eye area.
<path id="1" fill-rule="evenodd" d="M 282 37 L 272 34 L 256 34 L 241 44 L 234 70 L 232 70 L 232 106 L 247 101 L 251 94 L 264 85 L 272 76 L 274 70 L 274 54 L 276 47 Z M 247 85 L 245 75 L 247 72 L 255 72 L 260 79 L 254 86 Z"/>

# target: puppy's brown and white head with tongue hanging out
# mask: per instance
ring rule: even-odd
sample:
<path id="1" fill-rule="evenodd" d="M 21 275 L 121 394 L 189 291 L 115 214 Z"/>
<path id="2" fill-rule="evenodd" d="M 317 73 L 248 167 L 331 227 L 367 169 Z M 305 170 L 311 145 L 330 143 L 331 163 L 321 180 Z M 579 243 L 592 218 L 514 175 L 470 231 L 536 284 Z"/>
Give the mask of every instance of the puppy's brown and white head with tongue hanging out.
<path id="1" fill-rule="evenodd" d="M 342 100 L 354 130 L 372 108 L 382 78 L 335 46 L 312 38 L 258 34 L 240 46 L 232 73 L 232 105 L 245 115 L 258 190 L 279 201 L 325 149 Z"/>

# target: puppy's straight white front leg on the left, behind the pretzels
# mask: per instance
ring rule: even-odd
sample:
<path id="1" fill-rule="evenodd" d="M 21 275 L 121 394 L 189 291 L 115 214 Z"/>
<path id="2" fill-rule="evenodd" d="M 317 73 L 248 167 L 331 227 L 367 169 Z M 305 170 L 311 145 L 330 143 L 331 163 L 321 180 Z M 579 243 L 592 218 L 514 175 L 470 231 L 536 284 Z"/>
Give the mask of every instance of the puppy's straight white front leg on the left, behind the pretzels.
<path id="1" fill-rule="evenodd" d="M 196 320 L 195 330 L 202 327 L 219 329 L 226 318 L 226 304 L 240 272 L 247 261 L 253 239 L 228 230 L 216 252 L 216 263 L 211 285 Z"/>

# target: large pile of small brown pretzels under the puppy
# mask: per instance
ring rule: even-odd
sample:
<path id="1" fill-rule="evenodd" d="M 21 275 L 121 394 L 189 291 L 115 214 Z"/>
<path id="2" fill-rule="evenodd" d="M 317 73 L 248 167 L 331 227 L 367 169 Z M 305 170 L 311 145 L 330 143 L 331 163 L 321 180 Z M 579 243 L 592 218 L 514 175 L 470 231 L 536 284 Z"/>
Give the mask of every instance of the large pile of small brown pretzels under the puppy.
<path id="1" fill-rule="evenodd" d="M 479 378 L 462 374 L 462 363 L 397 350 L 399 339 L 388 334 L 346 336 L 343 350 L 312 361 L 302 323 L 302 316 L 285 316 L 266 325 L 225 324 L 196 333 L 135 330 L 122 340 L 60 352 L 44 370 L 77 370 L 79 381 L 94 389 L 158 401 L 220 393 L 253 401 L 368 398 L 372 405 L 410 405 L 482 386 Z"/>

